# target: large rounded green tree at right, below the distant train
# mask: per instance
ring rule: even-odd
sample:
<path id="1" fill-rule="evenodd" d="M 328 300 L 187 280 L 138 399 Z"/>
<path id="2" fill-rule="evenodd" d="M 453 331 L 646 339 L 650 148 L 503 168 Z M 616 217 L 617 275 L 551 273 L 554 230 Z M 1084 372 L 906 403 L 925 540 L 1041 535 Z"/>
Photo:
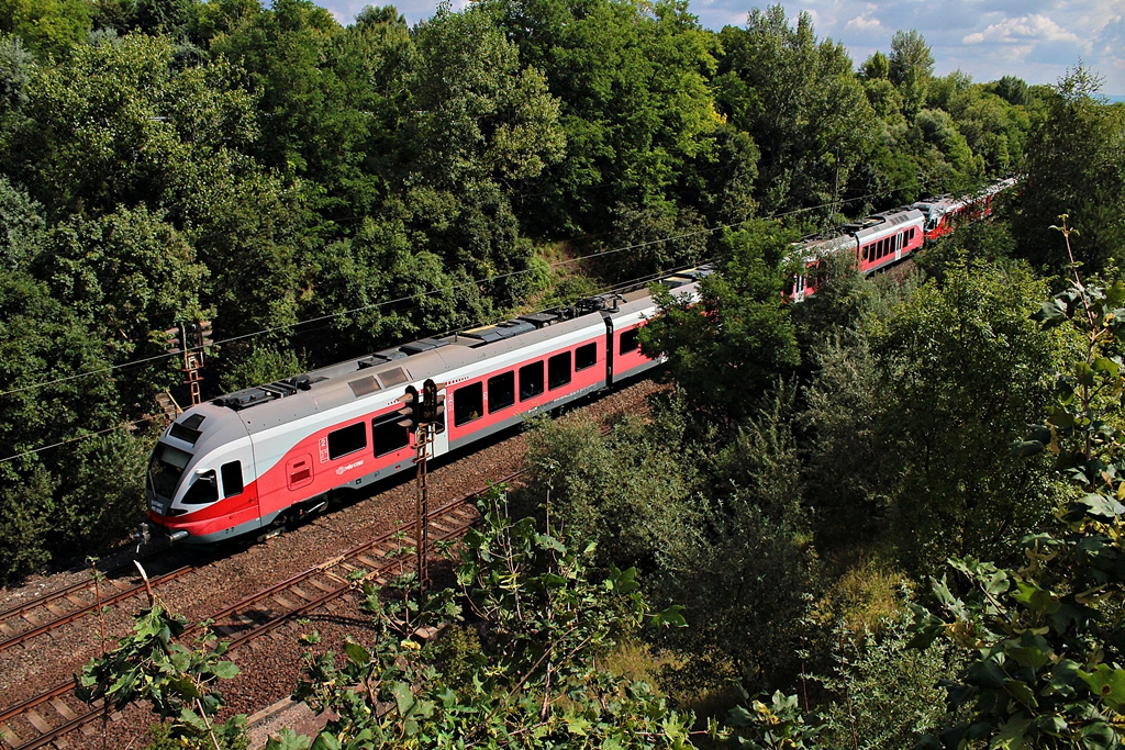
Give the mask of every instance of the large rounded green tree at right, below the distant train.
<path id="1" fill-rule="evenodd" d="M 1046 408 L 1066 351 L 1027 317 L 1043 291 L 1026 270 L 961 261 L 873 326 L 876 440 L 897 464 L 885 491 L 908 569 L 969 551 L 1004 559 L 1050 515 L 1050 478 L 1007 450 Z"/>

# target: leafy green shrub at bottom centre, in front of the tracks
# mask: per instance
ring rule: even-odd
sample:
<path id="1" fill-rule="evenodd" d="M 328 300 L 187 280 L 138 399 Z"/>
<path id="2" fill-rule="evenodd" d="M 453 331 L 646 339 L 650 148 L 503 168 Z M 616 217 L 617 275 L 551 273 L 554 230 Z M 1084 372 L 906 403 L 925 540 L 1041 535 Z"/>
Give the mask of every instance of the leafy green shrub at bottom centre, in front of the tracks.
<path id="1" fill-rule="evenodd" d="M 648 615 L 632 570 L 592 580 L 582 551 L 539 533 L 531 518 L 511 521 L 504 504 L 498 489 L 482 500 L 482 528 L 466 535 L 457 573 L 480 650 L 447 678 L 414 634 L 459 620 L 452 593 L 384 603 L 364 585 L 378 636 L 370 645 L 348 641 L 339 665 L 332 653 L 312 659 L 298 689 L 335 716 L 313 750 L 687 744 L 690 715 L 644 683 L 619 685 L 595 662 L 622 627 L 678 624 L 678 612 Z M 299 746 L 290 737 L 267 747 Z"/>

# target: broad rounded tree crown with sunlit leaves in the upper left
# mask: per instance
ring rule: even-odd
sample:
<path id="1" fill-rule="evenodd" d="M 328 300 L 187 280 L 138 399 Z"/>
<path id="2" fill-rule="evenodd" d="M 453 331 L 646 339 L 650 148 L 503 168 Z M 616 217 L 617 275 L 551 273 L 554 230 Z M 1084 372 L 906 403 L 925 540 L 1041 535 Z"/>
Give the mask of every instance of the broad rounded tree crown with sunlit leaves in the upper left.
<path id="1" fill-rule="evenodd" d="M 174 52 L 134 35 L 36 67 L 21 117 L 0 134 L 6 173 L 52 215 L 145 205 L 180 220 L 192 178 L 222 174 L 230 160 L 214 160 L 255 130 L 228 65 L 181 69 Z"/>

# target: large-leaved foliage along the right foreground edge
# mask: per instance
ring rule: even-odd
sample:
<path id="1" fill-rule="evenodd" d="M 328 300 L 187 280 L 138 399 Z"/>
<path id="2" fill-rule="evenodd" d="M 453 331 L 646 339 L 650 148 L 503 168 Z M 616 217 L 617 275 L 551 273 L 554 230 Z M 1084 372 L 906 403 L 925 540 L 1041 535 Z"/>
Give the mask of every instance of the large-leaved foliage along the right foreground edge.
<path id="1" fill-rule="evenodd" d="M 1068 234 L 1068 240 L 1070 235 Z M 1125 287 L 1077 282 L 1045 302 L 1044 327 L 1072 327 L 1084 356 L 1059 376 L 1044 423 L 1017 441 L 1020 454 L 1047 449 L 1069 477 L 1070 503 L 1060 532 L 1024 540 L 1016 568 L 975 557 L 951 560 L 961 585 L 933 581 L 934 603 L 918 607 L 917 643 L 943 636 L 971 654 L 947 684 L 952 706 L 968 720 L 945 728 L 929 747 L 1107 748 L 1120 744 L 1125 670 L 1122 576 L 1120 319 Z"/>

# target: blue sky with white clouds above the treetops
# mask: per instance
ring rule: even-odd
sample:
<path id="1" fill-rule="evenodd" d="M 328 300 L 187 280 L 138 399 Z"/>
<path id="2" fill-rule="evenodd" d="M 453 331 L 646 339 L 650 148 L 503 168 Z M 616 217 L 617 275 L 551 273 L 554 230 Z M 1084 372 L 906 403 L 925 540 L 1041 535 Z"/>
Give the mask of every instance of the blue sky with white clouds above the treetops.
<path id="1" fill-rule="evenodd" d="M 366 4 L 393 0 L 320 0 L 342 24 Z M 466 0 L 454 0 L 453 7 Z M 436 0 L 393 2 L 412 25 L 429 18 Z M 690 0 L 711 29 L 745 26 L 752 8 L 770 2 Z M 1125 0 L 806 0 L 783 3 L 795 25 L 807 11 L 818 38 L 842 42 L 858 66 L 872 53 L 890 52 L 896 30 L 916 29 L 934 52 L 935 73 L 961 70 L 984 83 L 1016 75 L 1056 83 L 1080 62 L 1102 76 L 1101 93 L 1125 96 Z"/>

